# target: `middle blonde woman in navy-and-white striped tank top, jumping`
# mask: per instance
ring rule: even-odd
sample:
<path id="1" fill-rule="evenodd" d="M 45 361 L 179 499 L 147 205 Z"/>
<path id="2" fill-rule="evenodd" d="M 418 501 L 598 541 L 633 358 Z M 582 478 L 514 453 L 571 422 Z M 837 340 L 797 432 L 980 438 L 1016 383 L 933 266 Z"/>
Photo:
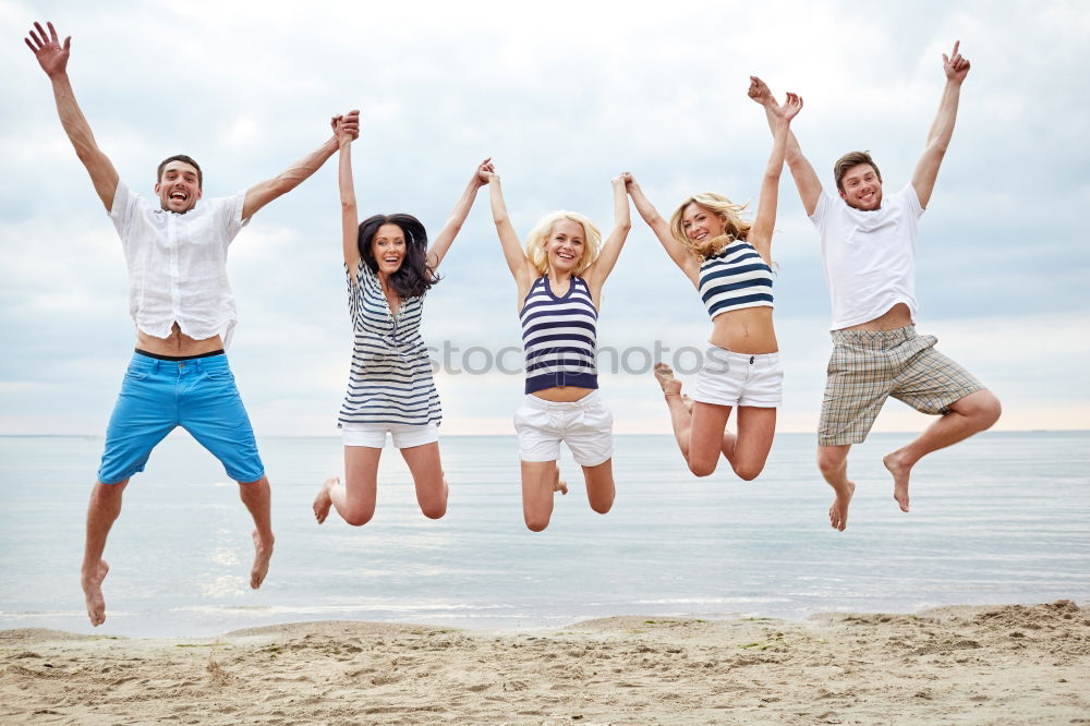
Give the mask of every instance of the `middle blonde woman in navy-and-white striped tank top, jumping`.
<path id="1" fill-rule="evenodd" d="M 560 443 L 583 469 L 591 508 L 613 507 L 613 415 L 597 394 L 595 367 L 602 286 L 631 228 L 628 196 L 613 180 L 614 229 L 602 234 L 571 211 L 546 215 L 526 238 L 525 251 L 507 215 L 499 176 L 488 174 L 492 213 L 518 286 L 526 354 L 525 399 L 514 414 L 522 460 L 522 513 L 534 532 L 548 527 L 554 492 L 567 493 L 557 458 Z"/>

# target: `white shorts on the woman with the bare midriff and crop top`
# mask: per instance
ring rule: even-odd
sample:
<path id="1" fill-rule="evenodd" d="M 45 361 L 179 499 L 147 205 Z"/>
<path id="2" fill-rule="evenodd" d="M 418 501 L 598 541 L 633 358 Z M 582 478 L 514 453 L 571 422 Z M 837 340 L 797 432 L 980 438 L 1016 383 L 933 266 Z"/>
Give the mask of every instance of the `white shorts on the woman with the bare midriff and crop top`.
<path id="1" fill-rule="evenodd" d="M 747 355 L 712 346 L 697 375 L 692 400 L 716 406 L 775 409 L 784 401 L 779 353 Z"/>

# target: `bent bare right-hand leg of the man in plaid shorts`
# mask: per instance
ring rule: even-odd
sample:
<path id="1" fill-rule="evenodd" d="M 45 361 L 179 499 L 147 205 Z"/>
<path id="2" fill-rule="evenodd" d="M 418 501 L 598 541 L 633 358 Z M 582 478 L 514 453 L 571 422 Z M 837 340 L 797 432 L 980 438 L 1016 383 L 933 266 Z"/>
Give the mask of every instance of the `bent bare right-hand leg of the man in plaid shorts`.
<path id="1" fill-rule="evenodd" d="M 1001 412 L 1000 400 L 990 390 L 978 390 L 949 407 L 949 412 L 928 426 L 912 443 L 887 453 L 882 463 L 893 474 L 893 498 L 908 511 L 908 480 L 916 462 L 932 451 L 965 440 L 990 428 Z"/>

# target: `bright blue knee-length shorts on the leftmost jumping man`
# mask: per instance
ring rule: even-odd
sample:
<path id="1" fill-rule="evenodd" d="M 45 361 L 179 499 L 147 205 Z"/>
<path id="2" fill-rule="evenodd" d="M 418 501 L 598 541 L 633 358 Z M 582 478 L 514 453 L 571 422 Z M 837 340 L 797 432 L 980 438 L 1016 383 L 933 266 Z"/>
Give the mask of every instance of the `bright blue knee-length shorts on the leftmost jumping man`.
<path id="1" fill-rule="evenodd" d="M 234 481 L 265 475 L 227 355 L 162 361 L 134 353 L 106 429 L 98 481 L 117 484 L 144 471 L 152 449 L 175 426 L 211 451 Z"/>

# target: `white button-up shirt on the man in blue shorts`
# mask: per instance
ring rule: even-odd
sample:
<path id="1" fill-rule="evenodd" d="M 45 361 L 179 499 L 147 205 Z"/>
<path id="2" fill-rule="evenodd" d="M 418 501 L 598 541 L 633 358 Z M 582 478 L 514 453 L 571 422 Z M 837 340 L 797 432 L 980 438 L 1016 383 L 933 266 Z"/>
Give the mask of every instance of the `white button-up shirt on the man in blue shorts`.
<path id="1" fill-rule="evenodd" d="M 129 313 L 136 327 L 166 338 L 178 323 L 194 340 L 219 335 L 228 344 L 238 322 L 227 280 L 227 247 L 246 226 L 246 193 L 202 199 L 184 214 L 133 193 L 118 181 L 110 219 L 129 264 Z"/>

